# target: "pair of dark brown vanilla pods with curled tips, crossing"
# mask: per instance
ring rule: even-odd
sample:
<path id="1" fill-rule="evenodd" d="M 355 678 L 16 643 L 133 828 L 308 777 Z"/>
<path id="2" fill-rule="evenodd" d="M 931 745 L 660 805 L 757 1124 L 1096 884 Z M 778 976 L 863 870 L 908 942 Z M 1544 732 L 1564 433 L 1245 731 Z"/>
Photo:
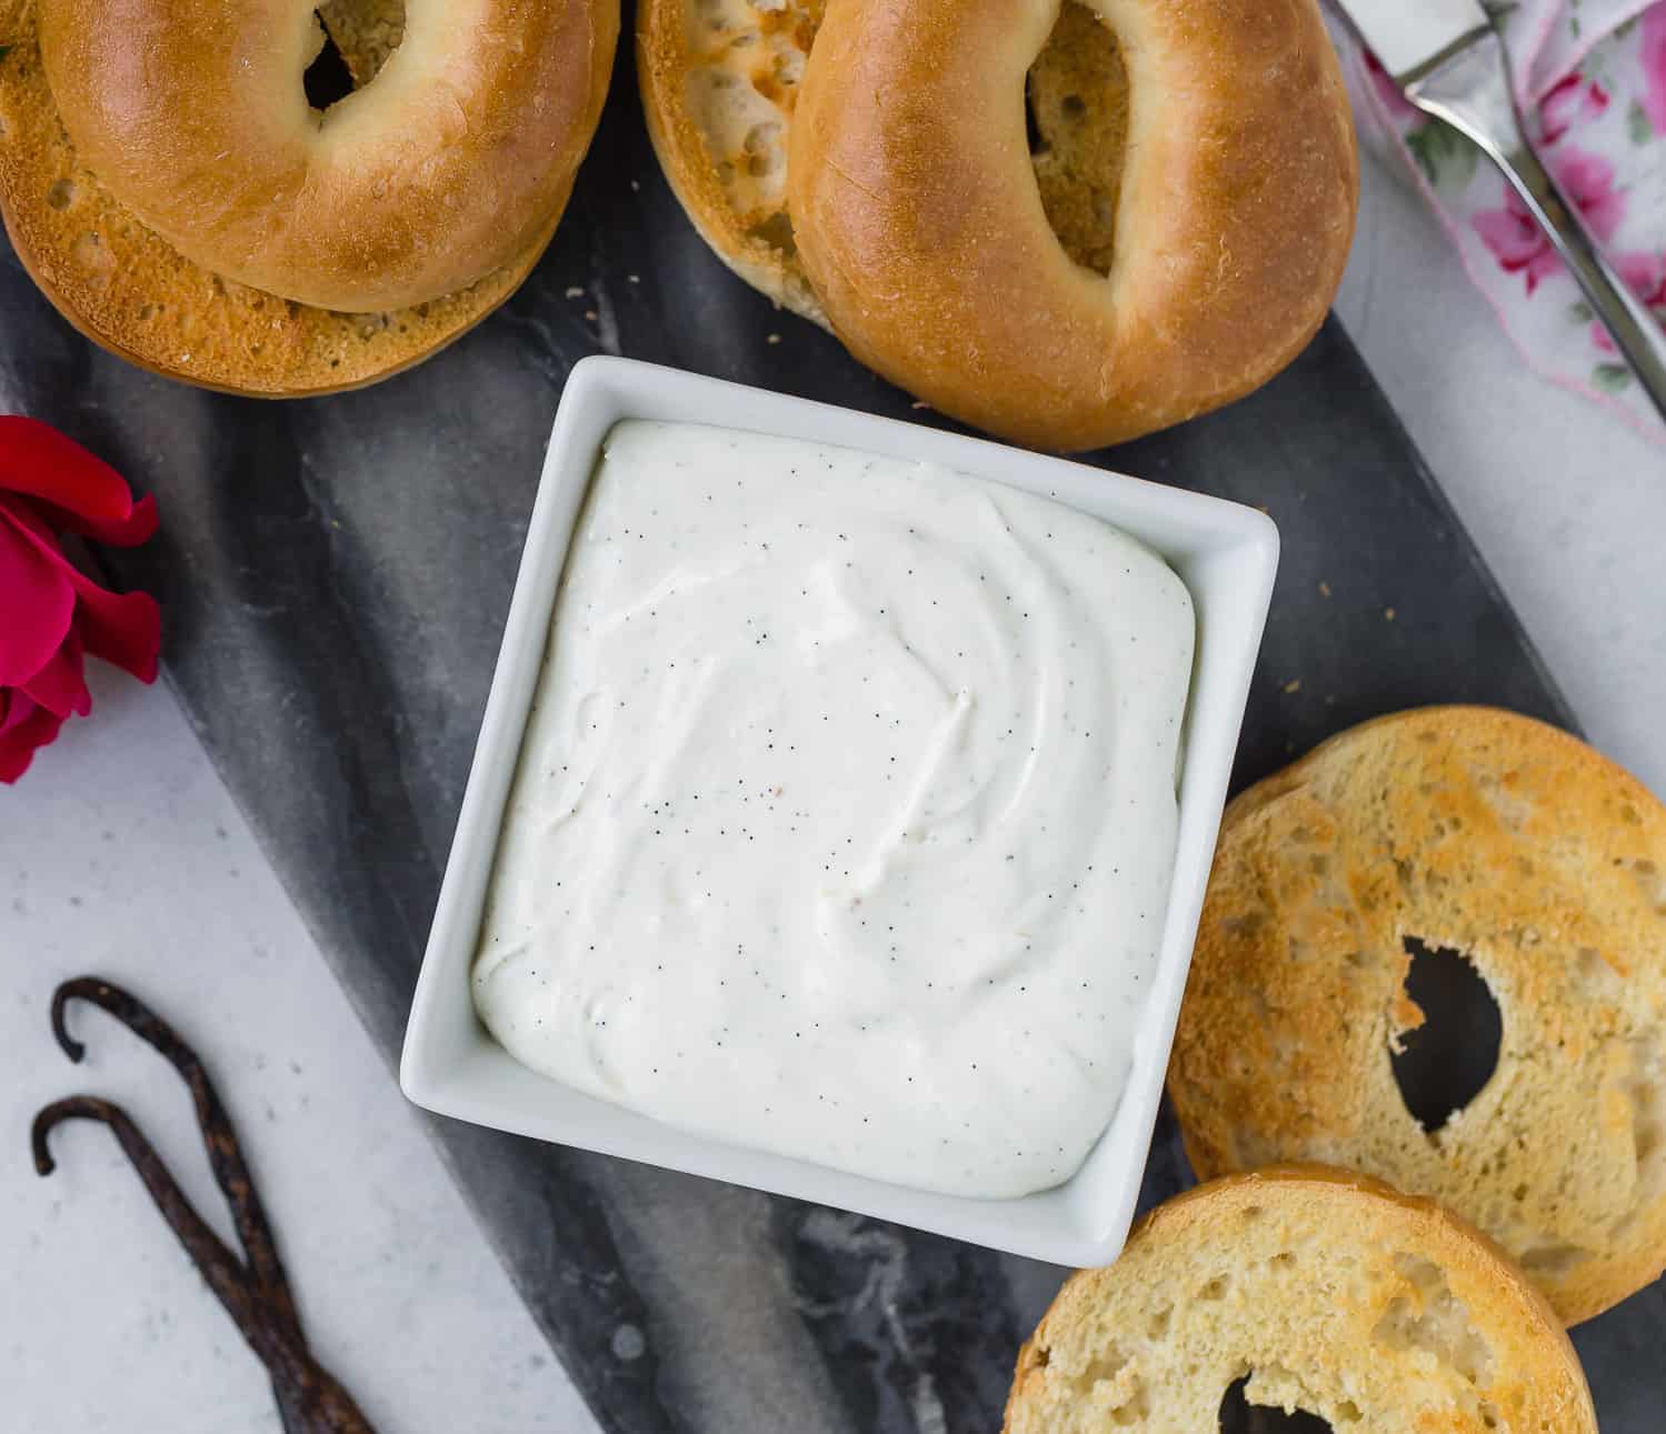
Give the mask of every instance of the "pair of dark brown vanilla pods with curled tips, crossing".
<path id="1" fill-rule="evenodd" d="M 85 1054 L 85 1048 L 68 1036 L 63 1024 L 65 1006 L 77 998 L 110 1011 L 155 1046 L 185 1078 L 215 1179 L 232 1206 L 238 1239 L 250 1262 L 245 1266 L 238 1261 L 203 1222 L 133 1119 L 110 1101 L 72 1096 L 42 1109 L 32 1129 L 37 1173 L 47 1176 L 55 1168 L 48 1136 L 62 1121 L 90 1119 L 108 1126 L 208 1287 L 267 1366 L 287 1434 L 373 1434 L 352 1396 L 307 1347 L 295 1299 L 248 1166 L 225 1106 L 195 1051 L 128 993 L 107 981 L 82 978 L 60 986 L 52 1004 L 53 1034 L 72 1061 Z"/>

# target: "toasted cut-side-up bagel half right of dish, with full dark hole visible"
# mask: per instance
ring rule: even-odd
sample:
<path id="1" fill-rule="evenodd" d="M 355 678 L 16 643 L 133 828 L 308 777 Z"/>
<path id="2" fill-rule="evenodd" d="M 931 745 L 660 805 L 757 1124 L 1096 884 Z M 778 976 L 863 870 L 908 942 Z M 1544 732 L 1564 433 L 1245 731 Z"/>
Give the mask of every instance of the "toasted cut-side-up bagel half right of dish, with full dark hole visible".
<path id="1" fill-rule="evenodd" d="M 1443 1126 L 1391 1051 L 1408 943 L 1468 958 L 1498 1066 Z M 1568 1324 L 1666 1266 L 1666 808 L 1543 723 L 1426 708 L 1333 738 L 1221 824 L 1168 1088 L 1198 1176 L 1323 1161 L 1428 1194 Z"/>

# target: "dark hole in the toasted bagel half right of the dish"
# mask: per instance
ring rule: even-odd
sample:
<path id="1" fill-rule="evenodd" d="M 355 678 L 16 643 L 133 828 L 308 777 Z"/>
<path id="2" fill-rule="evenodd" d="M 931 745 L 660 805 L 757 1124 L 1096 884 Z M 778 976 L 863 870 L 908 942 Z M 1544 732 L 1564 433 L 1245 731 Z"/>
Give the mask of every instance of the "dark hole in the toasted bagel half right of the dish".
<path id="1" fill-rule="evenodd" d="M 1389 1041 L 1389 1066 L 1411 1118 L 1434 1134 L 1493 1079 L 1504 1018 L 1461 951 L 1416 936 L 1404 944 L 1404 994 L 1421 1008 L 1423 1024 Z"/>

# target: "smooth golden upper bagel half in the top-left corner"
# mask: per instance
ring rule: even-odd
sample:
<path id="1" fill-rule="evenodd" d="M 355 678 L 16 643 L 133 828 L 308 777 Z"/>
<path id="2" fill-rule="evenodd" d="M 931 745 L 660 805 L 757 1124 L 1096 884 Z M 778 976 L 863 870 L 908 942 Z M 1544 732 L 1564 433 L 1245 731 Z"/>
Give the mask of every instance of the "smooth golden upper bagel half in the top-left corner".
<path id="1" fill-rule="evenodd" d="M 463 290 L 550 232 L 590 143 L 611 0 L 407 0 L 375 80 L 320 113 L 313 0 L 37 0 L 77 155 L 178 253 L 318 308 Z"/>

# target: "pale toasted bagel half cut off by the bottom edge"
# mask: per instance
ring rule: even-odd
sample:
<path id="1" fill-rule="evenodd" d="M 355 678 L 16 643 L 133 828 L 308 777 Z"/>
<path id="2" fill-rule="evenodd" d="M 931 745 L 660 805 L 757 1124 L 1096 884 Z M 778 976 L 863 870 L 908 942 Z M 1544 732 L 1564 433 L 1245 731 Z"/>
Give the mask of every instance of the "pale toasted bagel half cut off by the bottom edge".
<path id="1" fill-rule="evenodd" d="M 1155 1209 L 1018 1356 L 1006 1434 L 1221 1427 L 1231 1386 L 1371 1434 L 1596 1434 L 1549 1307 L 1483 1236 L 1359 1176 L 1274 1169 Z"/>

